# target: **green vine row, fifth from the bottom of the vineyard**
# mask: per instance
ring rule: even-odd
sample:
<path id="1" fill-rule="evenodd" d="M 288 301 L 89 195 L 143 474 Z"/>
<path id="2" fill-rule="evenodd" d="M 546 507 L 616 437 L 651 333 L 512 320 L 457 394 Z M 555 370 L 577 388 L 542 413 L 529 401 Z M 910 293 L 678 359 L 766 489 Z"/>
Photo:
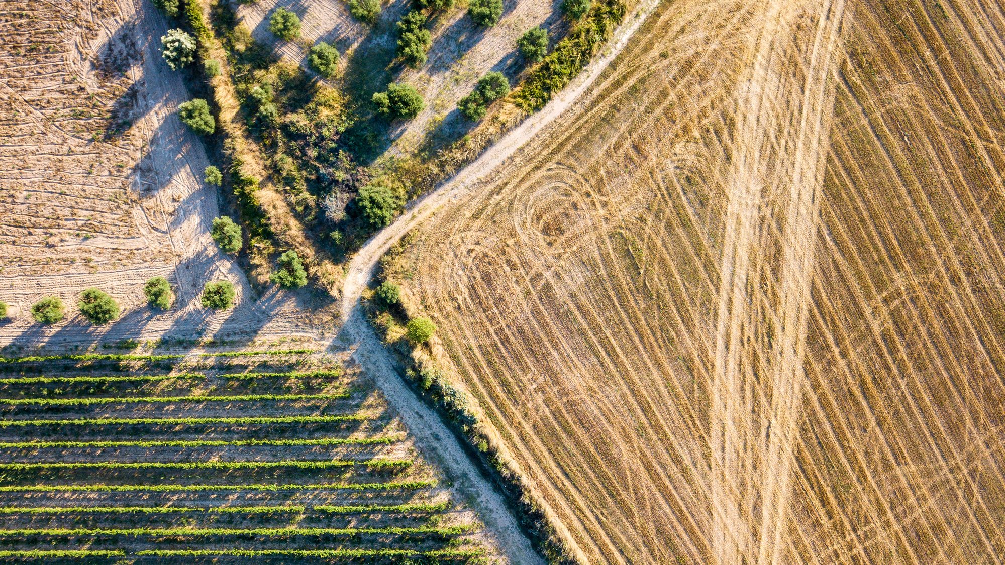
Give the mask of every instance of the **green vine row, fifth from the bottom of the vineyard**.
<path id="1" fill-rule="evenodd" d="M 271 468 L 290 466 L 296 468 L 333 468 L 339 466 L 367 465 L 378 468 L 406 467 L 410 459 L 283 459 L 278 461 L 59 461 L 48 463 L 0 463 L 0 470 L 31 468 Z"/>

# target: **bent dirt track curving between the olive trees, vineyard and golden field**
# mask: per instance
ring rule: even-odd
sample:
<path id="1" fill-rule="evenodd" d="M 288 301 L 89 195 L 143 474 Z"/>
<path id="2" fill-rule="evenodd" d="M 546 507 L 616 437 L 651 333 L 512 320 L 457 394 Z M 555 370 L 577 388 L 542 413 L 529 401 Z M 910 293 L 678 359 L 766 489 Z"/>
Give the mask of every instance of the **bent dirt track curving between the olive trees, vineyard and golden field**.
<path id="1" fill-rule="evenodd" d="M 342 303 L 345 321 L 343 337 L 351 339 L 355 344 L 354 357 L 370 368 L 378 386 L 415 434 L 417 442 L 429 446 L 439 454 L 440 463 L 455 481 L 458 492 L 470 500 L 486 528 L 496 536 L 502 553 L 514 564 L 524 565 L 542 561 L 520 531 L 514 516 L 507 510 L 502 497 L 480 475 L 435 412 L 408 389 L 394 370 L 390 354 L 384 349 L 359 308 L 360 295 L 373 277 L 377 262 L 402 235 L 430 217 L 443 204 L 455 201 L 474 190 L 488 173 L 579 100 L 608 63 L 624 48 L 628 39 L 657 3 L 657 0 L 646 0 L 634 13 L 629 13 L 626 16 L 626 23 L 615 31 L 602 55 L 591 62 L 576 80 L 548 106 L 524 121 L 438 189 L 414 202 L 397 221 L 373 236 L 353 258 L 346 274 Z"/>

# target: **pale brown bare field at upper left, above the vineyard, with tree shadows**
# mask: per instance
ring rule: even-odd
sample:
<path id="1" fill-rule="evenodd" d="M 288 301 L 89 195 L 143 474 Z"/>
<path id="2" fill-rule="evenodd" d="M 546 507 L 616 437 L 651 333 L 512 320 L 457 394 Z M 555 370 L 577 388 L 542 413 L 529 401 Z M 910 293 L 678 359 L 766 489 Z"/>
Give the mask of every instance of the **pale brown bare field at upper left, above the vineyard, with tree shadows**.
<path id="1" fill-rule="evenodd" d="M 0 343 L 94 335 L 70 319 L 29 329 L 28 308 L 59 296 L 70 309 L 99 287 L 124 307 L 109 339 L 304 333 L 273 292 L 253 304 L 237 263 L 209 235 L 220 214 L 203 182 L 213 164 L 177 117 L 189 93 L 160 54 L 168 24 L 150 0 L 0 1 L 0 300 L 12 323 Z M 143 284 L 175 286 L 167 314 L 145 308 Z M 237 307 L 199 306 L 207 279 L 227 278 Z"/>

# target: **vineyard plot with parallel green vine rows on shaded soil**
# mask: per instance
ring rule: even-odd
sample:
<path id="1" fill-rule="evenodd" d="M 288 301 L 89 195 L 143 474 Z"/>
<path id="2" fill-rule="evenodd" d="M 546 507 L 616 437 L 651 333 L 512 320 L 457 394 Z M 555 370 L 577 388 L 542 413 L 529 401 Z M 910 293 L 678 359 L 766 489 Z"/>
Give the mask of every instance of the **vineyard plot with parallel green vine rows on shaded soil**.
<path id="1" fill-rule="evenodd" d="M 0 557 L 493 555 L 373 383 L 335 358 L 28 359 L 0 371 Z"/>

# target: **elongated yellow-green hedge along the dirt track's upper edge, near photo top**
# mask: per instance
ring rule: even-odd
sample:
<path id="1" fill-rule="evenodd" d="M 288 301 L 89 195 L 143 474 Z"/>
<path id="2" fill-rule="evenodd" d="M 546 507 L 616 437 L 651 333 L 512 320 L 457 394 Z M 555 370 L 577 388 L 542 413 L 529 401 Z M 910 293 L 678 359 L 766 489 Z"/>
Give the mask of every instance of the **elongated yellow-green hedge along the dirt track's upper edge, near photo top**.
<path id="1" fill-rule="evenodd" d="M 548 104 L 555 92 L 564 88 L 590 62 L 624 15 L 625 5 L 620 0 L 596 3 L 524 80 L 515 95 L 517 106 L 525 112 L 535 112 Z"/>

